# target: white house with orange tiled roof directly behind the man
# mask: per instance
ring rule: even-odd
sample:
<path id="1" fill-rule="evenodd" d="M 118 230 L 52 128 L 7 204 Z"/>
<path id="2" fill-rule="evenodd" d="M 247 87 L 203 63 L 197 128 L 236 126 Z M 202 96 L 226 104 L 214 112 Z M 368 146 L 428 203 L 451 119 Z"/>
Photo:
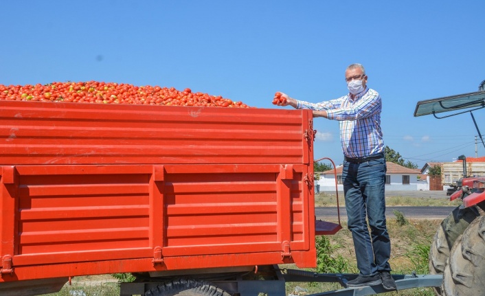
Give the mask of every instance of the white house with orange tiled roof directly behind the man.
<path id="1" fill-rule="evenodd" d="M 342 166 L 337 166 L 337 190 L 343 191 Z M 335 172 L 327 170 L 319 172 L 320 191 L 335 191 Z M 387 162 L 387 173 L 385 175 L 385 190 L 425 190 L 418 183 L 420 170 L 399 166 L 396 163 Z"/>

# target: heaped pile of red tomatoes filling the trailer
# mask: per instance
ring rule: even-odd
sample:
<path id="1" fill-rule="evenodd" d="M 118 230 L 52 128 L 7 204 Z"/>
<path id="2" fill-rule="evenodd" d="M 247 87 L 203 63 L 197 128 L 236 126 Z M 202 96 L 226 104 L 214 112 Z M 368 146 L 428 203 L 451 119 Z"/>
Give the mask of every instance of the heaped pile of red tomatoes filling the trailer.
<path id="1" fill-rule="evenodd" d="M 233 102 L 221 95 L 193 93 L 191 89 L 178 91 L 174 87 L 137 87 L 133 84 L 97 81 L 0 84 L 0 100 L 249 108 L 243 102 Z"/>

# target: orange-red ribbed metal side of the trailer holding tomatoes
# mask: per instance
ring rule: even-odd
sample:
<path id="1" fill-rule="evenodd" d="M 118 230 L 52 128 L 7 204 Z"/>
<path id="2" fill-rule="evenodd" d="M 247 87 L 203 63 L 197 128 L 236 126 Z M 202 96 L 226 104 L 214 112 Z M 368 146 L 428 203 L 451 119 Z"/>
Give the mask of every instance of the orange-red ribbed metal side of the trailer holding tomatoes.
<path id="1" fill-rule="evenodd" d="M 311 111 L 0 102 L 1 282 L 313 267 Z"/>

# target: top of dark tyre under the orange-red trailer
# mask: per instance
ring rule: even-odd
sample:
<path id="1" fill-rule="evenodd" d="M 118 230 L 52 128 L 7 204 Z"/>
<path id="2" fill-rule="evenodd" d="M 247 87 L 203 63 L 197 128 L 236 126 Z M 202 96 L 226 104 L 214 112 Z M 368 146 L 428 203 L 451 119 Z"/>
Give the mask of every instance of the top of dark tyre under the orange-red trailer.
<path id="1" fill-rule="evenodd" d="M 230 296 L 216 286 L 199 280 L 173 280 L 146 291 L 145 296 Z"/>

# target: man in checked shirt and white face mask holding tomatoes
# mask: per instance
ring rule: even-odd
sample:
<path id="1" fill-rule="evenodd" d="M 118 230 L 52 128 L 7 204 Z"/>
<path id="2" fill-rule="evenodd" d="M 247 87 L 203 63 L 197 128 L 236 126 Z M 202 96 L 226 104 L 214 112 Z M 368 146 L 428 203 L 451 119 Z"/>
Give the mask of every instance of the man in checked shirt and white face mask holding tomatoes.
<path id="1" fill-rule="evenodd" d="M 383 284 L 385 289 L 395 290 L 396 282 L 388 262 L 391 242 L 385 220 L 387 168 L 381 131 L 381 96 L 367 87 L 368 76 L 362 65 L 348 66 L 345 77 L 349 93 L 341 98 L 313 104 L 282 93 L 286 102 L 278 105 L 311 109 L 313 117 L 339 121 L 343 192 L 359 269 L 359 276 L 349 281 L 348 286 Z"/>

